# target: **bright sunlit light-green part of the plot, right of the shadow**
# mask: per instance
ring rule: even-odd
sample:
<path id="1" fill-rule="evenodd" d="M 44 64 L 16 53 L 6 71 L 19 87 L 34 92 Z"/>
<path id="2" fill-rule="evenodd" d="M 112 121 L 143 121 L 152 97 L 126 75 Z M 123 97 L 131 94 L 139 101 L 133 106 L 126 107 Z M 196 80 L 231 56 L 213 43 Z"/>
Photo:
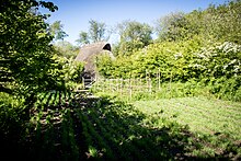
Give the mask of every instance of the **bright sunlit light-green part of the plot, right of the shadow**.
<path id="1" fill-rule="evenodd" d="M 191 131 L 225 133 L 241 140 L 241 103 L 205 97 L 162 99 L 136 101 L 134 106 L 150 117 L 168 117 Z"/>

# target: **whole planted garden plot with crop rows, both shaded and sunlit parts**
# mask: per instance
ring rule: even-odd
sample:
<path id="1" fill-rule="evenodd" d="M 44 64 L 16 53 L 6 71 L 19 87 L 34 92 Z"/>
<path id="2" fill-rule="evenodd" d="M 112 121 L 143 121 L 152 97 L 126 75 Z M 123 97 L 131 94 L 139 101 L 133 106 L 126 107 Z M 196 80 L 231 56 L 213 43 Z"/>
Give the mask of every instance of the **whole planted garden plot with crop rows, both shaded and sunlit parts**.
<path id="1" fill-rule="evenodd" d="M 241 158 L 238 102 L 177 97 L 129 103 L 83 95 L 38 95 L 22 140 L 24 160 Z"/>

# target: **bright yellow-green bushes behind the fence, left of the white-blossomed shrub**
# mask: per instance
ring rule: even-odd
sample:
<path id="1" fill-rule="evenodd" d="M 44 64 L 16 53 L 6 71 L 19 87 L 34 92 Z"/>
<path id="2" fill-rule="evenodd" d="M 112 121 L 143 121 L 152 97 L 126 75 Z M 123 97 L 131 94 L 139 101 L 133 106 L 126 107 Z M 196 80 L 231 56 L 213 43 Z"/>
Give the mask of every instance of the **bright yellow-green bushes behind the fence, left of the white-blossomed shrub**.
<path id="1" fill-rule="evenodd" d="M 108 64 L 100 60 L 99 67 L 104 71 L 102 73 L 110 72 L 113 78 L 129 78 L 130 76 L 144 78 L 147 73 L 152 78 L 160 71 L 162 81 L 170 79 L 185 81 L 193 78 L 192 73 L 186 70 L 193 60 L 193 53 L 202 46 L 204 43 L 197 38 L 180 43 L 156 43 L 129 57 L 117 57 L 115 60 L 110 60 Z"/>

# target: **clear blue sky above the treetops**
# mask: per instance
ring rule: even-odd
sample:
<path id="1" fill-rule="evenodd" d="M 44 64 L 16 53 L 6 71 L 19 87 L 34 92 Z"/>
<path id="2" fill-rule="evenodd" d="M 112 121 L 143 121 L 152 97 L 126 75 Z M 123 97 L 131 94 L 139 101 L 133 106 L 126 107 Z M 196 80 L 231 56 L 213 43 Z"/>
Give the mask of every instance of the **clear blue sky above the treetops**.
<path id="1" fill-rule="evenodd" d="M 88 32 L 89 21 L 104 22 L 107 28 L 114 28 L 125 20 L 148 23 L 154 22 L 171 12 L 192 12 L 204 10 L 209 4 L 223 4 L 227 0 L 46 0 L 58 7 L 50 13 L 48 23 L 61 21 L 64 31 L 68 34 L 65 41 L 74 45 L 81 31 Z M 45 10 L 42 13 L 46 13 Z M 110 43 L 116 43 L 117 35 L 113 34 Z"/>

